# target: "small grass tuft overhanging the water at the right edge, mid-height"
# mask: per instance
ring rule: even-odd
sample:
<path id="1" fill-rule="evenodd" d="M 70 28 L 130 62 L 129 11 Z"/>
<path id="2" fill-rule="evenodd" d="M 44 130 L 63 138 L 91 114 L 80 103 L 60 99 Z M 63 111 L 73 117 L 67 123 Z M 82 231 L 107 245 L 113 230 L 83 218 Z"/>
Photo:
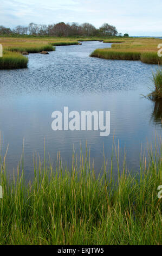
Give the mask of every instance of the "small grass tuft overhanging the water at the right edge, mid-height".
<path id="1" fill-rule="evenodd" d="M 148 97 L 152 100 L 162 99 L 162 69 L 153 72 L 154 90 Z"/>

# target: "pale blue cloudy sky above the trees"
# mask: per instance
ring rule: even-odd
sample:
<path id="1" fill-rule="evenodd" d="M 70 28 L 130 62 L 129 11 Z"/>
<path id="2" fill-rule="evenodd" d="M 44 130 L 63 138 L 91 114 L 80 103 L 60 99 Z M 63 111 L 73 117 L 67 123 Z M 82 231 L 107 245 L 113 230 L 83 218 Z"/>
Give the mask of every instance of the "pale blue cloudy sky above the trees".
<path id="1" fill-rule="evenodd" d="M 162 0 L 0 0 L 0 26 L 103 23 L 131 36 L 162 36 Z"/>

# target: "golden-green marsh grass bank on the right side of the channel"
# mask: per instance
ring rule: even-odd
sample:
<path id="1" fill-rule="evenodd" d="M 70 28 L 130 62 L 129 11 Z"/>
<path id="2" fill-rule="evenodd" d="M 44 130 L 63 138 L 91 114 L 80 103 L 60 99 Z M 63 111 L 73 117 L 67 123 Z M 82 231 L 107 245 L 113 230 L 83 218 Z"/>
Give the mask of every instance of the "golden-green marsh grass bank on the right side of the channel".
<path id="1" fill-rule="evenodd" d="M 112 48 L 96 49 L 91 57 L 104 59 L 141 60 L 148 64 L 162 65 L 162 58 L 158 57 L 160 39 L 127 38 L 123 40 L 105 40 L 103 42 L 116 43 Z M 120 43 L 120 44 L 119 44 Z M 122 43 L 122 44 L 121 44 Z"/>

